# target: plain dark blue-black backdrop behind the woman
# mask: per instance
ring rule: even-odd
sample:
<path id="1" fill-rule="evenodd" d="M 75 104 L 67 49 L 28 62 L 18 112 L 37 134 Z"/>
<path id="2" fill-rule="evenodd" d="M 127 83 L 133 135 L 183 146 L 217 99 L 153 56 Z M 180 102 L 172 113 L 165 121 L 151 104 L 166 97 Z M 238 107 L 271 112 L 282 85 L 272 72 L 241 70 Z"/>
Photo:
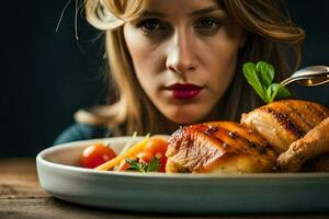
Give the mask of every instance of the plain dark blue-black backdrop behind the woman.
<path id="1" fill-rule="evenodd" d="M 0 157 L 35 155 L 73 123 L 73 113 L 105 99 L 99 33 L 78 15 L 75 0 L 1 3 Z M 306 30 L 302 66 L 329 65 L 329 1 L 287 0 L 294 20 Z M 296 88 L 300 96 L 329 106 L 329 85 Z"/>

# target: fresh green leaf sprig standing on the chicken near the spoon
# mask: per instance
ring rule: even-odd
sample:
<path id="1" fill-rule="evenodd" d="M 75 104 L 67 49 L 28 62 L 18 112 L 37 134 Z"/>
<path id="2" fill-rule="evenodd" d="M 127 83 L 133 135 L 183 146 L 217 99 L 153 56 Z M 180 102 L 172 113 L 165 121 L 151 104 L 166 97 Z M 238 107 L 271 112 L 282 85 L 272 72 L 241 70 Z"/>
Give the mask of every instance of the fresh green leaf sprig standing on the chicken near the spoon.
<path id="1" fill-rule="evenodd" d="M 248 83 L 254 89 L 263 102 L 271 103 L 275 99 L 292 96 L 292 93 L 280 83 L 272 83 L 275 70 L 271 64 L 264 61 L 257 64 L 246 62 L 242 70 Z"/>

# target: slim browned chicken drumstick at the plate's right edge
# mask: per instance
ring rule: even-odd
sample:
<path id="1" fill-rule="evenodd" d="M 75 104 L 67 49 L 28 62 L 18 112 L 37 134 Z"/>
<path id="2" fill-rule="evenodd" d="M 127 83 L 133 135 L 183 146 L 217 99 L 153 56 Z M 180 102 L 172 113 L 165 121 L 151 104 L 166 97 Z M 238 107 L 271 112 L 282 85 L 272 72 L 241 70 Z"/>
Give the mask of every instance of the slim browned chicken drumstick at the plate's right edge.
<path id="1" fill-rule="evenodd" d="M 281 171 L 296 172 L 305 161 L 328 152 L 329 117 L 308 131 L 305 137 L 294 141 L 288 150 L 279 157 L 277 165 Z"/>

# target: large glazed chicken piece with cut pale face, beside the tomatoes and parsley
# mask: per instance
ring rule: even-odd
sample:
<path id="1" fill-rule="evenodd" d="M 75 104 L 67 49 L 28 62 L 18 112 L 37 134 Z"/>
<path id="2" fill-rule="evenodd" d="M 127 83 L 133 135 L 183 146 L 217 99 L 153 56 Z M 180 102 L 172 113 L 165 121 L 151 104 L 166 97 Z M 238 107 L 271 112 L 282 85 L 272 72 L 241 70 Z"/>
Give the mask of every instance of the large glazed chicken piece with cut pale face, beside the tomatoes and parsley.
<path id="1" fill-rule="evenodd" d="M 168 142 L 168 173 L 272 172 L 276 160 L 266 140 L 231 122 L 185 126 Z"/>

